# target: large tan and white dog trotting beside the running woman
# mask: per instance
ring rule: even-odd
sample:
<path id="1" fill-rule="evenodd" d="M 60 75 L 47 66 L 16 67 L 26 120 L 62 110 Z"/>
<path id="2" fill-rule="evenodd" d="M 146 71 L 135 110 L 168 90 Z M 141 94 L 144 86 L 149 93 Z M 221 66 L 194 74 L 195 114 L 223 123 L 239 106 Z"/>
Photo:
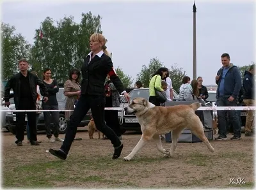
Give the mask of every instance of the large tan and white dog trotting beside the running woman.
<path id="1" fill-rule="evenodd" d="M 214 148 L 204 135 L 204 126 L 195 114 L 195 111 L 200 106 L 200 103 L 166 107 L 155 106 L 149 103 L 147 99 L 134 98 L 124 110 L 127 113 L 136 113 L 142 136 L 132 152 L 124 157 L 124 160 L 130 161 L 145 145 L 145 142 L 152 139 L 155 140 L 157 149 L 164 154 L 164 157 L 173 157 L 179 135 L 184 128 L 190 129 L 193 134 L 205 143 L 211 152 L 214 152 Z M 170 131 L 172 131 L 172 145 L 170 150 L 165 150 L 162 147 L 159 135 L 170 133 Z"/>

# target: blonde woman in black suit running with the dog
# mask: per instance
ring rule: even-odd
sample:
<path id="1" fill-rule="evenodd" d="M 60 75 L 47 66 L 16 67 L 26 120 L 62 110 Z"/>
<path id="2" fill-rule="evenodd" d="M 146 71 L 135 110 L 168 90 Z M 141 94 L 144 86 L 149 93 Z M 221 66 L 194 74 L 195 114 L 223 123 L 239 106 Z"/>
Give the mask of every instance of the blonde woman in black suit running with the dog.
<path id="1" fill-rule="evenodd" d="M 81 82 L 81 96 L 74 112 L 70 116 L 70 121 L 67 123 L 65 140 L 59 150 L 49 149 L 52 155 L 60 159 L 67 158 L 67 154 L 76 136 L 77 126 L 90 109 L 96 128 L 108 137 L 115 148 L 112 158 L 118 158 L 122 152 L 122 142 L 118 136 L 116 136 L 115 132 L 106 125 L 104 119 L 104 83 L 107 75 L 109 75 L 118 92 L 124 94 L 127 101 L 129 101 L 129 94 L 124 90 L 120 78 L 116 75 L 113 62 L 106 48 L 106 38 L 104 38 L 102 34 L 92 34 L 90 37 L 91 52 L 84 58 L 81 68 L 83 76 Z"/>

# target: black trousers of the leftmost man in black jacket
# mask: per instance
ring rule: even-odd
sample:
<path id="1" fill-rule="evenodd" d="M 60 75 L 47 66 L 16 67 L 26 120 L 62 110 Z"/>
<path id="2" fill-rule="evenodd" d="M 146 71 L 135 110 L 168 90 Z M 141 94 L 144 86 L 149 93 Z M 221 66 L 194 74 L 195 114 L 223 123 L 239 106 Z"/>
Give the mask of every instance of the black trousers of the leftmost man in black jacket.
<path id="1" fill-rule="evenodd" d="M 36 103 L 33 102 L 33 99 L 20 99 L 17 110 L 36 110 Z M 28 126 L 30 133 L 30 140 L 36 141 L 36 112 L 27 112 L 28 115 Z M 24 129 L 26 126 L 25 117 L 26 112 L 17 112 L 17 130 L 16 130 L 16 138 L 18 142 L 22 142 L 24 140 Z"/>

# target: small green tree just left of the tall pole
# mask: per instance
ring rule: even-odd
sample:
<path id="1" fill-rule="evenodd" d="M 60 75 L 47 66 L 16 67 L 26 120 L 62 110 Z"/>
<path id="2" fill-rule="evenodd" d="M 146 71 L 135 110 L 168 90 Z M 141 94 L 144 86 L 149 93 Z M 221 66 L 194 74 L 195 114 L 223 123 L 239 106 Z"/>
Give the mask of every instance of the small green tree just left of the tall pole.
<path id="1" fill-rule="evenodd" d="M 172 79 L 172 88 L 179 93 L 180 85 L 182 84 L 182 78 L 185 76 L 186 71 L 183 68 L 179 68 L 175 63 L 170 68 L 170 78 Z"/>

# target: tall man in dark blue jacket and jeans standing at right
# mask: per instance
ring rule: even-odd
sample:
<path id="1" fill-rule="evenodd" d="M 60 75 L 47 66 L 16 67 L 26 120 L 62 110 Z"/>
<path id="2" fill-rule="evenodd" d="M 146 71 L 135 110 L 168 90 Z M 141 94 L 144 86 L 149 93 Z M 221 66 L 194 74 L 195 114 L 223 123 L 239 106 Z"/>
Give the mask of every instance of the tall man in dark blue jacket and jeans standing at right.
<path id="1" fill-rule="evenodd" d="M 218 70 L 215 77 L 216 84 L 218 85 L 216 93 L 217 106 L 237 106 L 239 91 L 242 87 L 239 69 L 230 63 L 230 55 L 227 53 L 221 55 L 221 62 L 223 66 Z M 225 110 L 218 110 L 217 113 L 220 136 L 216 140 L 227 140 Z M 237 112 L 228 111 L 228 115 L 234 131 L 234 136 L 230 139 L 239 140 L 241 139 L 241 126 Z"/>

